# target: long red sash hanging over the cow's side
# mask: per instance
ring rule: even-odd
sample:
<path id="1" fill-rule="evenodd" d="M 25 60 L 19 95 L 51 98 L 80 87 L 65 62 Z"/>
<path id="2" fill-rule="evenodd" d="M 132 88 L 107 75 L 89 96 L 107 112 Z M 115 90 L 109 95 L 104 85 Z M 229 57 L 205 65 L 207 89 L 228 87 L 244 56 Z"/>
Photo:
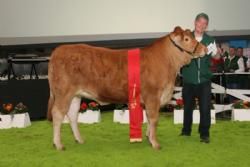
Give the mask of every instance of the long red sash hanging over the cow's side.
<path id="1" fill-rule="evenodd" d="M 140 104 L 140 49 L 128 51 L 128 98 L 130 142 L 142 141 L 143 114 Z"/>

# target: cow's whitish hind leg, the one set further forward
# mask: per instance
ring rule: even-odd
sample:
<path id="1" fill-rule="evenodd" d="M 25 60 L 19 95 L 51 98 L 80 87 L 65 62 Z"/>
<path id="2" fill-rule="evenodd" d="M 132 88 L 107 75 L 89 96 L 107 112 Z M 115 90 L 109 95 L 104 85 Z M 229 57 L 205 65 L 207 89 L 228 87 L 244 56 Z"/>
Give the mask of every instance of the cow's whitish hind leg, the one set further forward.
<path id="1" fill-rule="evenodd" d="M 69 107 L 69 111 L 68 111 L 67 115 L 70 119 L 70 126 L 71 126 L 71 129 L 72 129 L 72 132 L 74 134 L 76 142 L 82 144 L 83 140 L 82 140 L 82 137 L 80 135 L 78 123 L 77 123 L 80 105 L 81 105 L 81 98 L 74 97 L 71 101 L 71 105 Z"/>

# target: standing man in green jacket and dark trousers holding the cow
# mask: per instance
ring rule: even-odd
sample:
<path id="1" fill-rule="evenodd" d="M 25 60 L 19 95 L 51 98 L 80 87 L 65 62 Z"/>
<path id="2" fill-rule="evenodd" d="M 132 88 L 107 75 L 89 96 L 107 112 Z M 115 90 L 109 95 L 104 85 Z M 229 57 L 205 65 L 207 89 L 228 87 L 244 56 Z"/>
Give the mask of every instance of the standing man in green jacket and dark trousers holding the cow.
<path id="1" fill-rule="evenodd" d="M 209 17 L 205 13 L 196 16 L 193 35 L 197 41 L 206 45 L 207 54 L 202 58 L 192 59 L 191 63 L 182 69 L 184 100 L 184 122 L 181 136 L 190 136 L 193 122 L 193 110 L 195 98 L 199 101 L 200 110 L 200 141 L 210 142 L 209 129 L 211 125 L 211 56 L 216 55 L 217 48 L 214 38 L 205 33 L 209 23 Z"/>

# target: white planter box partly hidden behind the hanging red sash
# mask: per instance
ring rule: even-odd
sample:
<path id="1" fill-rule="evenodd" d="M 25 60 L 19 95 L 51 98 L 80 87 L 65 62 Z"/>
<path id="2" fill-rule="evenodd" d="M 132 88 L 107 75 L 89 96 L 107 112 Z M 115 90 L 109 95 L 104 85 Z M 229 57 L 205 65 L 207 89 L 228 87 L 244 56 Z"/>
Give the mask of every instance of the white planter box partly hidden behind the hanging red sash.
<path id="1" fill-rule="evenodd" d="M 129 110 L 127 104 L 116 104 L 113 121 L 121 124 L 129 124 Z M 146 111 L 143 110 L 143 123 L 147 123 Z"/>

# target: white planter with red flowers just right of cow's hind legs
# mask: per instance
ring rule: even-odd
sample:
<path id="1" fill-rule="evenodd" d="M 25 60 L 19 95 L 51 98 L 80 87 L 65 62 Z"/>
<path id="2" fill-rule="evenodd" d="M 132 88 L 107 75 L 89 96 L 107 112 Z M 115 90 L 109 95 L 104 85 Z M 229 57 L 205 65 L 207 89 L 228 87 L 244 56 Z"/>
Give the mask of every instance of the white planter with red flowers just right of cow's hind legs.
<path id="1" fill-rule="evenodd" d="M 88 124 L 101 122 L 101 111 L 96 102 L 90 102 L 88 105 L 82 102 L 79 112 L 78 122 Z"/>

